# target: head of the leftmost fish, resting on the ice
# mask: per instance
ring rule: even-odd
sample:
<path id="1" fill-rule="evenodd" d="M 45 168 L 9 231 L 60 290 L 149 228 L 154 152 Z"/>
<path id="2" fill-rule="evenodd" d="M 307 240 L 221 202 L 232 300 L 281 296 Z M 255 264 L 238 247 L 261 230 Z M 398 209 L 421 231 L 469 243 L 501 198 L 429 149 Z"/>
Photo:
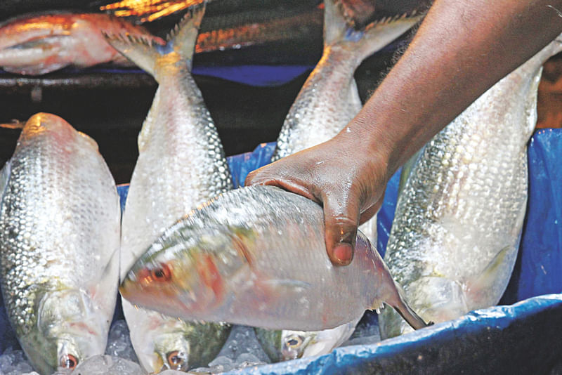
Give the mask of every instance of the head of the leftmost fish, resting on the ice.
<path id="1" fill-rule="evenodd" d="M 105 351 L 109 322 L 99 316 L 84 291 L 48 291 L 39 298 L 37 329 L 21 336 L 20 344 L 41 373 L 74 369 Z"/>

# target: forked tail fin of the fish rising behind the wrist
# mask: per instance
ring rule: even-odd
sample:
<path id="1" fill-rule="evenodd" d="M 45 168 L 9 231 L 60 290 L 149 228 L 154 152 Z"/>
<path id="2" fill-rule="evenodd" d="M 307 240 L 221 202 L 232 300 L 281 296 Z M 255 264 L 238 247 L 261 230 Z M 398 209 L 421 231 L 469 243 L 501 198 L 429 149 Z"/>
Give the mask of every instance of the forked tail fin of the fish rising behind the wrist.
<path id="1" fill-rule="evenodd" d="M 412 11 L 393 17 L 381 18 L 362 29 L 355 29 L 344 15 L 338 0 L 325 0 L 324 44 L 348 45 L 356 52 L 358 62 L 390 44 L 414 26 L 423 15 Z"/>

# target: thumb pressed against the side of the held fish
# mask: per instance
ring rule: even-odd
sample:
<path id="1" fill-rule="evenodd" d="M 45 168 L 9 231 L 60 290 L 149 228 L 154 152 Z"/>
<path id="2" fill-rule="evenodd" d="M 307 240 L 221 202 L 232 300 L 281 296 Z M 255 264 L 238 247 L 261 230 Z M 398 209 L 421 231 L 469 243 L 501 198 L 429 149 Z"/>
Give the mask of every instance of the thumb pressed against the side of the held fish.
<path id="1" fill-rule="evenodd" d="M 348 265 L 353 260 L 355 237 L 359 224 L 359 202 L 350 199 L 324 197 L 326 251 L 334 265 Z"/>

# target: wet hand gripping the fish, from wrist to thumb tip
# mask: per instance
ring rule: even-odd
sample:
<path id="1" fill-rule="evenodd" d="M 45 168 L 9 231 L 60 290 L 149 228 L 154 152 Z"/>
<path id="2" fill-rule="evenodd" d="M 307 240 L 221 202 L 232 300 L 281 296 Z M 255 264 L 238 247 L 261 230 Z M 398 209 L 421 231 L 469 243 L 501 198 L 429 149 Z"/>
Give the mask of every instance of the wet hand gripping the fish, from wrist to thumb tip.
<path id="1" fill-rule="evenodd" d="M 322 204 L 327 254 L 335 265 L 353 259 L 358 225 L 384 198 L 386 164 L 346 133 L 252 171 L 245 185 L 275 185 Z"/>

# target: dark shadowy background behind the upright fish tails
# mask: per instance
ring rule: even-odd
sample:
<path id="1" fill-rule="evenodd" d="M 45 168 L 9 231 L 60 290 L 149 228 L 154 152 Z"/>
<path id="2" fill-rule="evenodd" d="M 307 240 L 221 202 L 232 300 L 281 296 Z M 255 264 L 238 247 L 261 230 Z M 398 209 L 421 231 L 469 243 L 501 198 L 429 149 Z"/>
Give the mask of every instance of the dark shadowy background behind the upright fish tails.
<path id="1" fill-rule="evenodd" d="M 107 1 L 109 2 L 109 1 Z M 216 0 L 207 6 L 201 30 L 228 28 L 240 22 L 268 22 L 295 11 L 317 8 L 318 0 Z M 351 1 L 353 3 L 353 1 Z M 3 0 L 0 22 L 30 11 L 73 9 L 96 11 L 105 1 L 79 0 Z M 420 5 L 421 4 L 421 5 Z M 421 1 L 378 1 L 380 14 L 400 14 Z M 72 7 L 72 8 L 70 8 Z M 313 13 L 311 13 L 313 14 Z M 314 13 L 318 15 L 317 13 Z M 178 12 L 145 24 L 154 34 L 164 36 L 183 15 Z M 313 17 L 313 15 L 311 15 Z M 134 19 L 132 20 L 134 21 Z M 303 25 L 305 27 L 307 25 Z M 298 77 L 275 86 L 256 86 L 236 82 L 237 77 L 219 79 L 194 74 L 205 103 L 221 136 L 227 156 L 251 151 L 262 142 L 274 141 L 289 107 L 306 77 L 322 54 L 321 20 L 308 28 L 287 33 L 285 39 L 228 51 L 198 53 L 193 70 L 200 67 L 273 67 L 268 74 L 283 81 L 283 65 L 301 67 Z M 367 58 L 355 72 L 362 100 L 376 88 L 392 65 L 393 55 L 407 45 L 409 34 Z M 540 88 L 540 126 L 560 126 L 562 84 L 557 84 L 562 65 L 556 56 L 549 61 Z M 278 75 L 279 77 L 275 77 Z M 560 86 L 561 88 L 558 88 Z M 91 136 L 100 147 L 117 183 L 127 183 L 138 156 L 136 137 L 152 103 L 157 84 L 137 69 L 84 70 L 65 68 L 41 77 L 21 77 L 0 70 L 0 123 L 12 119 L 25 121 L 37 112 L 58 114 L 77 130 Z M 0 128 L 0 165 L 15 148 L 17 129 Z"/>

